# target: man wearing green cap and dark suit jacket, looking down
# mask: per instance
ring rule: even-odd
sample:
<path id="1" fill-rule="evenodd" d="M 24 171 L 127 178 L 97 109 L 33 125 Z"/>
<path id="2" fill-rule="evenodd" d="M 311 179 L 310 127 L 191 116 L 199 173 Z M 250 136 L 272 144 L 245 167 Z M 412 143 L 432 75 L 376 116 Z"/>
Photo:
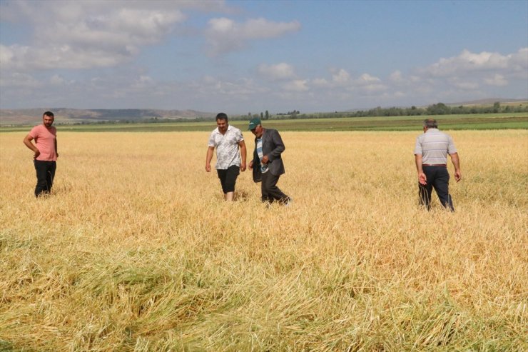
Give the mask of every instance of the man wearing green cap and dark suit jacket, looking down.
<path id="1" fill-rule="evenodd" d="M 252 119 L 249 130 L 255 135 L 255 151 L 248 166 L 253 169 L 253 181 L 262 181 L 262 201 L 278 201 L 288 205 L 291 198 L 277 187 L 280 175 L 285 173 L 283 159 L 280 157 L 285 150 L 283 139 L 276 129 L 265 129 L 260 119 Z"/>

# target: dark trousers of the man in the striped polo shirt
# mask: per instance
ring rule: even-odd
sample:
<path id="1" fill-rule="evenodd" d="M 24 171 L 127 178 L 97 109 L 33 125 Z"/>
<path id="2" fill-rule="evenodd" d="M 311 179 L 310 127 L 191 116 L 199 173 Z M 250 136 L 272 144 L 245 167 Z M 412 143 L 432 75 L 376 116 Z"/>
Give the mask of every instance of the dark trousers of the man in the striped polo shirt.
<path id="1" fill-rule="evenodd" d="M 420 204 L 425 205 L 427 210 L 431 207 L 432 188 L 440 199 L 440 203 L 445 208 L 449 207 L 455 211 L 453 201 L 449 193 L 450 174 L 445 166 L 423 166 L 424 174 L 427 177 L 427 184 L 424 186 L 418 183 L 418 194 L 420 195 Z"/>

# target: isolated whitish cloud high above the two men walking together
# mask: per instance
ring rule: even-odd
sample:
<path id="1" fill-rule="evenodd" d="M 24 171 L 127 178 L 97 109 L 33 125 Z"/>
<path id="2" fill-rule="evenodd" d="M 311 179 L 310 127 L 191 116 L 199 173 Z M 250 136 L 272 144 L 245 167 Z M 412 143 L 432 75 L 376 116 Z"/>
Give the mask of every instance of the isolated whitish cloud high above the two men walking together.
<path id="1" fill-rule="evenodd" d="M 298 21 L 273 22 L 267 19 L 248 19 L 244 23 L 237 23 L 222 17 L 209 20 L 205 37 L 210 45 L 209 53 L 218 55 L 245 48 L 248 46 L 248 41 L 254 39 L 278 38 L 299 29 Z"/>

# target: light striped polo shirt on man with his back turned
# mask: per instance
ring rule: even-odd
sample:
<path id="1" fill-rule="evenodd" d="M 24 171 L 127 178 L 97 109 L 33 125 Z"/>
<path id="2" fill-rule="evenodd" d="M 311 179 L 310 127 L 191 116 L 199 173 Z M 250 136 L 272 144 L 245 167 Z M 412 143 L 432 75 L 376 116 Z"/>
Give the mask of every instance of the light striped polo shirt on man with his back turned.
<path id="1" fill-rule="evenodd" d="M 456 152 L 457 148 L 451 136 L 439 129 L 427 129 L 425 134 L 417 136 L 415 155 L 422 156 L 422 164 L 447 164 L 447 154 Z"/>

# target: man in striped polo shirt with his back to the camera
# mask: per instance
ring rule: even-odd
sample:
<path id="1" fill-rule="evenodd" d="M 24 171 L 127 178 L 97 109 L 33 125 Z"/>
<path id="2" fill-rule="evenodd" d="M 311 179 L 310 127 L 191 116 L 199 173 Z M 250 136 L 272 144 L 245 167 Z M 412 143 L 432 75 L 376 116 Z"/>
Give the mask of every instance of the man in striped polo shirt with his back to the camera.
<path id="1" fill-rule="evenodd" d="M 431 206 L 432 188 L 435 188 L 442 206 L 455 211 L 449 193 L 450 174 L 447 172 L 447 154 L 451 156 L 451 161 L 455 166 L 455 180 L 458 182 L 462 179 L 462 173 L 453 139 L 438 129 L 435 119 L 424 120 L 424 134 L 416 139 L 415 162 L 418 171 L 420 204 L 425 205 L 427 210 Z"/>

